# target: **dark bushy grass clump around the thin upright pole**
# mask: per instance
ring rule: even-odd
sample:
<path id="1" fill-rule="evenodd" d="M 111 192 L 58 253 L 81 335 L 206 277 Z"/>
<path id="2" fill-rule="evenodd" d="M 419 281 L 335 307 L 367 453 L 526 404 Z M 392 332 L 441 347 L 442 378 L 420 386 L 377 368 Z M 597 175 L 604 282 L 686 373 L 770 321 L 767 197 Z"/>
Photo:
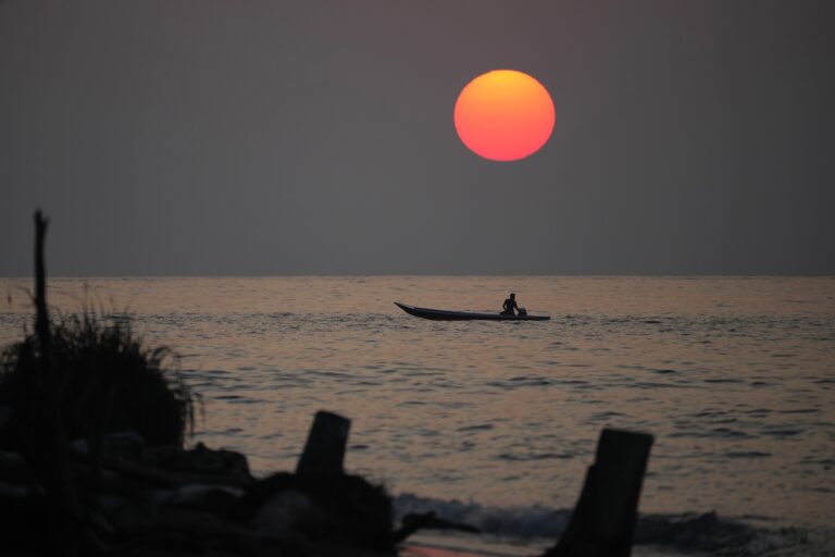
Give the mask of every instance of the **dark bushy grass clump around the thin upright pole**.
<path id="1" fill-rule="evenodd" d="M 183 446 L 198 399 L 169 348 L 148 348 L 129 320 L 92 311 L 52 318 L 49 327 L 48 348 L 26 334 L 0 356 L 0 406 L 9 416 L 0 449 L 25 451 L 55 420 L 67 441 L 135 431 L 150 446 Z"/>

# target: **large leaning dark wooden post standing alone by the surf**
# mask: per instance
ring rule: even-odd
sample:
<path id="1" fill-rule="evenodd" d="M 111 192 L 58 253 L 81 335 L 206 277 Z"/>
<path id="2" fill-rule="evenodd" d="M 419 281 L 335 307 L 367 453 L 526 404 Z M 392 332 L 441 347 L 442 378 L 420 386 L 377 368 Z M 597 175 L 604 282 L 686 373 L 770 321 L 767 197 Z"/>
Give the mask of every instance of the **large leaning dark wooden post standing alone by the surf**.
<path id="1" fill-rule="evenodd" d="M 652 436 L 603 430 L 571 521 L 547 557 L 628 557 Z"/>

